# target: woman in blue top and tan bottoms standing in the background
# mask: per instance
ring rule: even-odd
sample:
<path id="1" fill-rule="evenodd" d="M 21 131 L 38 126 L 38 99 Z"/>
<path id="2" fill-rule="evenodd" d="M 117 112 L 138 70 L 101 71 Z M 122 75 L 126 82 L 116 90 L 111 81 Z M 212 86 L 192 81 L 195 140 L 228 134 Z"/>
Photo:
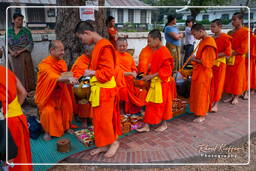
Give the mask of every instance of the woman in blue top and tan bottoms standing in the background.
<path id="1" fill-rule="evenodd" d="M 164 28 L 164 36 L 166 39 L 166 47 L 170 50 L 174 58 L 174 71 L 178 71 L 180 68 L 180 47 L 181 39 L 183 38 L 183 33 L 179 33 L 176 25 L 176 17 L 169 15 L 168 22 Z"/>

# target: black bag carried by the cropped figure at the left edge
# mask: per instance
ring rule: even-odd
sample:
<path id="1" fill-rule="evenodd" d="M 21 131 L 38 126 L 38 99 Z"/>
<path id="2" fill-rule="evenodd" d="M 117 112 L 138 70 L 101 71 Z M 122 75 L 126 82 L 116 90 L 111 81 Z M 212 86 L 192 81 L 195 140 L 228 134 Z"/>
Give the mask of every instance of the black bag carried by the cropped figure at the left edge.
<path id="1" fill-rule="evenodd" d="M 0 160 L 6 160 L 6 121 L 0 120 Z M 15 144 L 12 134 L 8 129 L 8 160 L 17 156 L 18 148 Z"/>

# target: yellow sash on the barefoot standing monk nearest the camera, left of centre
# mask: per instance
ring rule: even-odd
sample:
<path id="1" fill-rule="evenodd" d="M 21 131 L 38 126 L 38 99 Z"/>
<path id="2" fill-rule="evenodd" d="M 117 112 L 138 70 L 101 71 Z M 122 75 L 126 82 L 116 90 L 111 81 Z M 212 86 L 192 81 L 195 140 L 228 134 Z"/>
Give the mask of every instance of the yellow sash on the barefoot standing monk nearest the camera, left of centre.
<path id="1" fill-rule="evenodd" d="M 112 77 L 110 81 L 105 83 L 100 83 L 95 76 L 93 76 L 90 80 L 91 85 L 91 94 L 89 101 L 92 104 L 92 107 L 97 107 L 100 105 L 100 88 L 115 88 L 116 81 L 115 78 Z"/>

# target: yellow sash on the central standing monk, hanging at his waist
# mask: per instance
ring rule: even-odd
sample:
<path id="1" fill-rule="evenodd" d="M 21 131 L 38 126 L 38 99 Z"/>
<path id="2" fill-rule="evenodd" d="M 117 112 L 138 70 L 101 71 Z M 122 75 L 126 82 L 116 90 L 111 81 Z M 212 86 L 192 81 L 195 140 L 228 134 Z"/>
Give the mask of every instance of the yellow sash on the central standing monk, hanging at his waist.
<path id="1" fill-rule="evenodd" d="M 158 76 L 151 79 L 146 102 L 163 103 L 161 82 L 162 80 Z"/>

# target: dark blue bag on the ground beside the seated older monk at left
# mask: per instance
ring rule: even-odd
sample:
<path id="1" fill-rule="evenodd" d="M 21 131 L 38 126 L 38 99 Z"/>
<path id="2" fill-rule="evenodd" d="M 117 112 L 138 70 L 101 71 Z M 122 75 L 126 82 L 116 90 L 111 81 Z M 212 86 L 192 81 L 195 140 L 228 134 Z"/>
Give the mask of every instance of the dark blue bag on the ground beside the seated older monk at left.
<path id="1" fill-rule="evenodd" d="M 27 118 L 30 138 L 37 139 L 43 132 L 41 124 L 37 121 L 36 116 Z"/>

